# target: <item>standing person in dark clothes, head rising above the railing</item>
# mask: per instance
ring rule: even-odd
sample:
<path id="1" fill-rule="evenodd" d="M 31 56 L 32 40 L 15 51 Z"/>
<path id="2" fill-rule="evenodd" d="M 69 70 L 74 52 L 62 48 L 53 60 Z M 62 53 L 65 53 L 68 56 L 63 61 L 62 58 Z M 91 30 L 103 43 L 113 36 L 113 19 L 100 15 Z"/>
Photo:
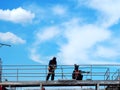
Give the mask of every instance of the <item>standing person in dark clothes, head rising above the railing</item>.
<path id="1" fill-rule="evenodd" d="M 57 67 L 56 57 L 53 57 L 52 60 L 49 61 L 49 66 L 48 66 L 49 72 L 48 72 L 48 75 L 46 77 L 46 81 L 49 80 L 50 76 L 51 76 L 51 80 L 54 80 L 56 67 Z"/>

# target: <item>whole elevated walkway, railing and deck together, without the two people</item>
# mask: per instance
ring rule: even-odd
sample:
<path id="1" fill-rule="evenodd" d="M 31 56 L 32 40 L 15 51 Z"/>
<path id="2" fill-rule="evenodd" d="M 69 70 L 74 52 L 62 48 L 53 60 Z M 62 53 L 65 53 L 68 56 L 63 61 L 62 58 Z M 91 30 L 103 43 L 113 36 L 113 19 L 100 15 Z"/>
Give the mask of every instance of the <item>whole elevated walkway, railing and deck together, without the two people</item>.
<path id="1" fill-rule="evenodd" d="M 83 80 L 73 80 L 73 65 L 58 65 L 55 80 L 46 81 L 47 65 L 2 65 L 0 71 L 0 86 L 3 87 L 62 87 L 62 86 L 92 86 L 101 90 L 120 90 L 120 65 L 80 65 Z M 112 87 L 112 88 L 111 88 Z M 10 89 L 9 89 L 10 90 Z M 15 89 L 17 90 L 17 89 Z M 42 89 L 41 89 L 42 90 Z M 89 90 L 89 89 L 86 89 Z"/>

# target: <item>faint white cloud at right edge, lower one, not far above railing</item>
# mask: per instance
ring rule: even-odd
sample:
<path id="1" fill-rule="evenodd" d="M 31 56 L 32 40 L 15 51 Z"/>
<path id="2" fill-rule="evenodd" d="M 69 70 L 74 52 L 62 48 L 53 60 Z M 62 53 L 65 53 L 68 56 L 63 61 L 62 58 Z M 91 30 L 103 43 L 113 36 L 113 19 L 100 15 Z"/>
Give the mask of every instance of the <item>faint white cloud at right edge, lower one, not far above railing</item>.
<path id="1" fill-rule="evenodd" d="M 106 45 L 97 45 L 96 51 L 94 52 L 95 57 L 117 60 L 120 56 L 120 50 L 118 49 L 120 48 L 119 41 L 119 38 L 112 37 Z"/>

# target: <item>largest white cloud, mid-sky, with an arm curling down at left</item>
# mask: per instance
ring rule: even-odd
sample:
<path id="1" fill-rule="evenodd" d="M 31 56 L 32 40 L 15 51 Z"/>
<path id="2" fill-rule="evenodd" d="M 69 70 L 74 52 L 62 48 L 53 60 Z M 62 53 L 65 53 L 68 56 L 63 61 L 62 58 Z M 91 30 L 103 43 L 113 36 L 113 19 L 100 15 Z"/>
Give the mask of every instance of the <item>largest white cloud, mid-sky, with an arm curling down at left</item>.
<path id="1" fill-rule="evenodd" d="M 61 63 L 80 64 L 97 62 L 90 61 L 91 55 L 89 55 L 89 49 L 100 42 L 109 40 L 111 38 L 111 32 L 93 24 L 80 25 L 79 22 L 79 19 L 72 19 L 58 27 L 49 27 L 37 32 L 36 41 L 34 42 L 35 46 L 33 46 L 33 48 L 39 47 L 43 42 L 53 42 L 56 36 L 61 35 L 62 39 L 56 38 L 56 43 L 60 43 L 58 44 L 59 52 L 55 55 L 60 59 Z M 64 42 L 64 40 L 66 42 Z M 63 43 L 61 41 L 63 41 Z M 42 59 L 38 58 L 41 57 L 41 54 L 37 50 L 38 49 L 36 49 L 36 53 L 31 53 L 31 56 L 35 56 L 32 60 L 42 62 Z M 35 58 L 37 58 L 37 60 Z M 103 63 L 103 61 L 101 61 L 101 63 Z"/>

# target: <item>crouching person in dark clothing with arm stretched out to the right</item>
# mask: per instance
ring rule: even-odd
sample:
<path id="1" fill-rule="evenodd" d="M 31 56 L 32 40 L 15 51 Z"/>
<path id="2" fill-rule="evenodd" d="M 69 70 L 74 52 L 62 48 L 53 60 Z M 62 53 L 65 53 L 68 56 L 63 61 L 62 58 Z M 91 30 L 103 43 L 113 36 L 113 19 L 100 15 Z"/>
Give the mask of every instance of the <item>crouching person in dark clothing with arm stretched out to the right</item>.
<path id="1" fill-rule="evenodd" d="M 72 73 L 72 79 L 82 80 L 83 79 L 82 73 L 89 73 L 89 72 L 79 70 L 79 65 L 74 64 L 74 70 L 73 70 L 73 73 Z"/>

